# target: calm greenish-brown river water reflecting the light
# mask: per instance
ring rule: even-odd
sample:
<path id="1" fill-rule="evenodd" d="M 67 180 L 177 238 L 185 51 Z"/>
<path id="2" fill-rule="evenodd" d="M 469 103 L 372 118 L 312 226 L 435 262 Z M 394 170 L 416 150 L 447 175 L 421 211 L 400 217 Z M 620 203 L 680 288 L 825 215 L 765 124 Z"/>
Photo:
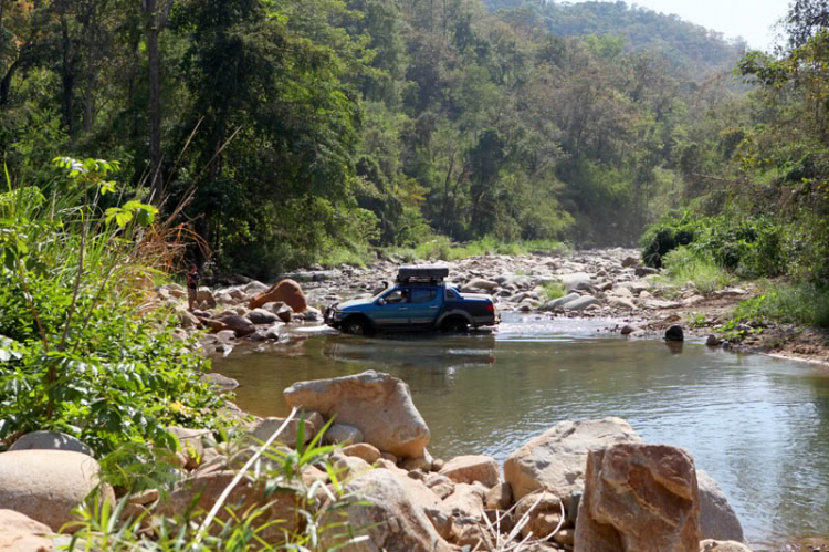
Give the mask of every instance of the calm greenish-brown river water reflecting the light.
<path id="1" fill-rule="evenodd" d="M 506 314 L 495 333 L 358 337 L 321 326 L 237 350 L 214 368 L 237 402 L 284 416 L 294 382 L 388 372 L 406 381 L 429 451 L 506 456 L 565 419 L 625 418 L 648 442 L 691 452 L 725 491 L 757 550 L 829 534 L 829 372 L 699 342 L 601 332 L 609 321 Z"/>

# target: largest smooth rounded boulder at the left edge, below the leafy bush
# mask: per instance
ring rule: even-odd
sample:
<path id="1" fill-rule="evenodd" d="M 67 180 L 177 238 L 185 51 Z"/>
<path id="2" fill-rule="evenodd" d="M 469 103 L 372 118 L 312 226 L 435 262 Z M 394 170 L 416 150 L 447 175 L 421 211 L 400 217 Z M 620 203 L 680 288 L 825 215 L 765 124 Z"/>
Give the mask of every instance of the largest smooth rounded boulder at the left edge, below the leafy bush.
<path id="1" fill-rule="evenodd" d="M 99 483 L 99 472 L 98 462 L 82 452 L 0 454 L 0 509 L 23 513 L 56 532 L 73 520 L 72 510 Z"/>

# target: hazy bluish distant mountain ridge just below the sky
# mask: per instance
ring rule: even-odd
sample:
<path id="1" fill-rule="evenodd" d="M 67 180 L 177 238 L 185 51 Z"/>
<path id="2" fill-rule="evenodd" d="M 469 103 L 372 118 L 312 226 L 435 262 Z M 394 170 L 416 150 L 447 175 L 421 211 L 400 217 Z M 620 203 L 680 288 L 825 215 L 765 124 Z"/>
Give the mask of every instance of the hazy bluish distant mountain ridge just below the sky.
<path id="1" fill-rule="evenodd" d="M 483 0 L 492 10 L 528 9 L 538 14 L 547 30 L 562 37 L 616 34 L 629 48 L 665 55 L 676 69 L 696 79 L 730 70 L 742 58 L 746 43 L 725 40 L 723 34 L 679 18 L 623 1 L 556 3 L 545 0 Z"/>

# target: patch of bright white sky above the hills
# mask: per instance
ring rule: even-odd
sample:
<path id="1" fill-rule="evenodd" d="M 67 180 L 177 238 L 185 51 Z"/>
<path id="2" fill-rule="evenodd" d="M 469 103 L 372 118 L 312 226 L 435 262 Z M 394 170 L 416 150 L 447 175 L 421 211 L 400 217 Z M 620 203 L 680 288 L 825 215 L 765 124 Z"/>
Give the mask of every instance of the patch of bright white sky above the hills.
<path id="1" fill-rule="evenodd" d="M 755 50 L 769 50 L 774 24 L 786 14 L 789 0 L 626 0 L 665 14 L 675 13 L 691 23 L 722 32 L 726 39 L 743 37 Z"/>

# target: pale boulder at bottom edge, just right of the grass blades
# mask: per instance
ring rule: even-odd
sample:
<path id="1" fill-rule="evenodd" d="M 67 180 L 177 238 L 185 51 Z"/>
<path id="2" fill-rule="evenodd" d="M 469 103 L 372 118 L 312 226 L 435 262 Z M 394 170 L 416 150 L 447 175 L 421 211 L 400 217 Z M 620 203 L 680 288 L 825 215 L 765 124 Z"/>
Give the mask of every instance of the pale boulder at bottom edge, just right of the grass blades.
<path id="1" fill-rule="evenodd" d="M 368 535 L 367 540 L 350 544 L 345 550 L 348 552 L 410 552 L 413 550 L 449 552 L 452 550 L 424 512 L 417 492 L 412 492 L 412 488 L 419 482 L 407 483 L 405 479 L 390 470 L 375 469 L 345 485 L 345 491 L 354 493 L 355 498 L 360 500 L 351 503 L 344 511 L 339 511 L 347 514 L 345 518 L 335 517 L 330 521 L 339 522 L 342 519 L 347 519 L 357 535 Z M 431 494 L 429 489 L 426 487 L 423 489 L 424 496 Z M 437 503 L 433 506 L 439 508 Z M 449 522 L 450 520 L 447 519 L 445 523 L 449 524 Z M 323 533 L 323 548 L 330 548 L 345 540 L 345 537 L 337 538 L 336 533 L 342 533 L 342 531 Z"/>

